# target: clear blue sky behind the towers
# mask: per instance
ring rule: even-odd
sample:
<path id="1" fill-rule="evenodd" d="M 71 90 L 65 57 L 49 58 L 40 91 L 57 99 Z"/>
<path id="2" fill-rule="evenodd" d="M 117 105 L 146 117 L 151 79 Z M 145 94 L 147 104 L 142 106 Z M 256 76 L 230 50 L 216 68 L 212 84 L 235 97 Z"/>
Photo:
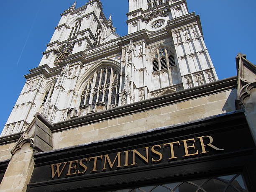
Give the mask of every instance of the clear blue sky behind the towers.
<path id="1" fill-rule="evenodd" d="M 2 106 L 0 132 L 23 88 L 23 75 L 38 66 L 60 14 L 73 0 L 8 0 L 1 1 Z M 88 0 L 77 0 L 77 7 Z M 127 0 L 101 0 L 106 17 L 112 14 L 121 36 L 127 34 Z M 206 46 L 219 79 L 236 75 L 235 56 L 247 54 L 256 64 L 255 0 L 187 0 L 189 12 L 200 15 Z"/>

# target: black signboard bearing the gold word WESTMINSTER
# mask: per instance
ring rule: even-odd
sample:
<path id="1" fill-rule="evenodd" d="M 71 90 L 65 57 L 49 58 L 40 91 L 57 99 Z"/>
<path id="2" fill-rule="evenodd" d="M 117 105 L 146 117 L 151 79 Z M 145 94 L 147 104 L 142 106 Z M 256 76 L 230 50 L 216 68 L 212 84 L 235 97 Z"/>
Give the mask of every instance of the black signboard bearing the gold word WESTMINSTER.
<path id="1" fill-rule="evenodd" d="M 115 191 L 125 186 L 235 173 L 248 161 L 254 166 L 253 150 L 255 143 L 246 118 L 235 113 L 35 153 L 27 191 Z"/>

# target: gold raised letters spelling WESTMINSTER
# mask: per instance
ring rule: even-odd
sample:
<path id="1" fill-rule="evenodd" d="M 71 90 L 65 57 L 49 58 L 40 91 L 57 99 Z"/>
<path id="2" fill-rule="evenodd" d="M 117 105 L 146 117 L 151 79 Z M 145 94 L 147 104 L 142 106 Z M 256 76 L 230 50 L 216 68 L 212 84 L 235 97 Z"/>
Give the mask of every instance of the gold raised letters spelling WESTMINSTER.
<path id="1" fill-rule="evenodd" d="M 49 166 L 51 177 L 58 179 L 195 158 L 209 153 L 209 150 L 223 151 L 224 149 L 223 146 L 214 145 L 212 136 L 200 136 L 116 153 L 84 156 L 81 159 L 64 161 Z"/>

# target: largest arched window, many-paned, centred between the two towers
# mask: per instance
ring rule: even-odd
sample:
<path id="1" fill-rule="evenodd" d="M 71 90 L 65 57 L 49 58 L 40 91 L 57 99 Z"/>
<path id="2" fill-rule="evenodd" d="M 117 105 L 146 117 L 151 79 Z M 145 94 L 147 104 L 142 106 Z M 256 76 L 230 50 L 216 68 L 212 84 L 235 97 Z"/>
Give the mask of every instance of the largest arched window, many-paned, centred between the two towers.
<path id="1" fill-rule="evenodd" d="M 112 67 L 104 67 L 95 72 L 82 91 L 80 107 L 97 102 L 105 102 L 107 109 L 110 105 L 118 106 L 120 74 Z"/>

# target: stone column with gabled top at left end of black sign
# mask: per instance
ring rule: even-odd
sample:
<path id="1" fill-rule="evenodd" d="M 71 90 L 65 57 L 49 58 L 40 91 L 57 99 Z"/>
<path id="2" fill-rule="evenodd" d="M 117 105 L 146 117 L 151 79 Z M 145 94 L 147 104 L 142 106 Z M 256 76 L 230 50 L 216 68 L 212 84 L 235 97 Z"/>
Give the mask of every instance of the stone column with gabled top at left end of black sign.
<path id="1" fill-rule="evenodd" d="M 10 151 L 12 157 L 0 184 L 1 192 L 26 192 L 34 169 L 33 154 L 52 150 L 49 123 L 38 112 Z"/>

